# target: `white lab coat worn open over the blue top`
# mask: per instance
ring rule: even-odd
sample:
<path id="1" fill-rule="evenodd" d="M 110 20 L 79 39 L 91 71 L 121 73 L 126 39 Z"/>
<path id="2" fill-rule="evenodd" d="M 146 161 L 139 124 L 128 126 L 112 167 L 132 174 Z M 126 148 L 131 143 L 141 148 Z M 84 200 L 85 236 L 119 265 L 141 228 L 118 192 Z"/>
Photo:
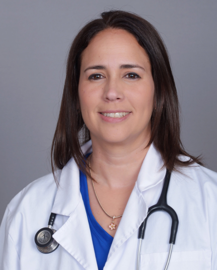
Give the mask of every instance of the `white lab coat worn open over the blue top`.
<path id="1" fill-rule="evenodd" d="M 83 147 L 91 152 L 91 141 Z M 186 159 L 186 157 L 180 157 Z M 138 229 L 155 204 L 166 170 L 154 145 L 144 159 L 135 187 L 113 239 L 104 270 L 135 270 Z M 201 166 L 173 172 L 168 204 L 179 217 L 179 230 L 168 270 L 217 270 L 217 173 Z M 79 169 L 71 159 L 58 172 L 24 188 L 7 206 L 0 227 L 0 270 L 97 270 L 91 232 L 80 193 Z M 56 213 L 50 254 L 40 253 L 35 233 Z M 171 219 L 165 212 L 150 216 L 141 249 L 141 270 L 163 270 L 169 251 Z"/>

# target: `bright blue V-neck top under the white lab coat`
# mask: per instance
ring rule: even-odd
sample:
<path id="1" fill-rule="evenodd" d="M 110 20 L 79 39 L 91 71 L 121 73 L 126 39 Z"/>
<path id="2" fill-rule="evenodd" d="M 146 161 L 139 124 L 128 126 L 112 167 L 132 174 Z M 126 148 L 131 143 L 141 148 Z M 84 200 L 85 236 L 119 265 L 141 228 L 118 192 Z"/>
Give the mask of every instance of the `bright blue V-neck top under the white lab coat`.
<path id="1" fill-rule="evenodd" d="M 108 253 L 113 241 L 113 237 L 110 236 L 96 221 L 92 214 L 89 195 L 88 195 L 88 183 L 85 174 L 80 171 L 80 190 L 84 201 L 85 209 L 87 212 L 88 222 L 91 229 L 91 236 L 94 245 L 94 251 L 97 259 L 97 265 L 99 270 L 103 270 Z M 103 210 L 102 210 L 103 211 Z"/>

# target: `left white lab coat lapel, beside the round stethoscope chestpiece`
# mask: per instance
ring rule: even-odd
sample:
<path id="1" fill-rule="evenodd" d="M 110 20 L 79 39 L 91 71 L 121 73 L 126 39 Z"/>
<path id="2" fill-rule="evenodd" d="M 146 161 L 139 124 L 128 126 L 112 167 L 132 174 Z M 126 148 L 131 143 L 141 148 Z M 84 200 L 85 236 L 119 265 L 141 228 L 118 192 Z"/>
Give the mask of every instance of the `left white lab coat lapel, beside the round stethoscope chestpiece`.
<path id="1" fill-rule="evenodd" d="M 83 151 L 90 151 L 91 142 Z M 52 213 L 69 216 L 53 238 L 86 270 L 98 270 L 90 227 L 80 193 L 79 169 L 71 159 L 63 168 Z"/>

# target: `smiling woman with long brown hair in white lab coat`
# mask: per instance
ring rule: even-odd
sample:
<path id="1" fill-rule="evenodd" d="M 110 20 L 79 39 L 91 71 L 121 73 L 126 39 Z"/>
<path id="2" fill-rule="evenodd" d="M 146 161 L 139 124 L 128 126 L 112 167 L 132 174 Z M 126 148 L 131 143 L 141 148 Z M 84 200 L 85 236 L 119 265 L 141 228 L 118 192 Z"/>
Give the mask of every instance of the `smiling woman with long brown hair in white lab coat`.
<path id="1" fill-rule="evenodd" d="M 167 51 L 149 22 L 104 12 L 75 37 L 52 158 L 53 175 L 28 185 L 6 209 L 2 270 L 136 269 L 139 227 L 166 170 L 167 201 L 179 218 L 168 269 L 217 269 L 217 174 L 183 149 Z M 34 237 L 51 212 L 59 247 L 43 254 Z M 166 212 L 150 216 L 140 269 L 164 269 L 170 227 Z M 37 233 L 35 241 L 46 237 Z"/>

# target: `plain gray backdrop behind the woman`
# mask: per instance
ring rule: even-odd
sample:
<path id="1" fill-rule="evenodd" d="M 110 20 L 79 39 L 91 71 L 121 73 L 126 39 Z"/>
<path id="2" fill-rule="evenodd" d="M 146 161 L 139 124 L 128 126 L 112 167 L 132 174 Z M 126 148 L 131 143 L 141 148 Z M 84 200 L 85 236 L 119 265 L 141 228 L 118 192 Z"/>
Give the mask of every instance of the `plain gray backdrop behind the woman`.
<path id="1" fill-rule="evenodd" d="M 67 51 L 77 31 L 109 8 L 138 13 L 161 33 L 184 146 L 217 171 L 216 0 L 1 0 L 0 220 L 13 196 L 51 171 Z"/>

